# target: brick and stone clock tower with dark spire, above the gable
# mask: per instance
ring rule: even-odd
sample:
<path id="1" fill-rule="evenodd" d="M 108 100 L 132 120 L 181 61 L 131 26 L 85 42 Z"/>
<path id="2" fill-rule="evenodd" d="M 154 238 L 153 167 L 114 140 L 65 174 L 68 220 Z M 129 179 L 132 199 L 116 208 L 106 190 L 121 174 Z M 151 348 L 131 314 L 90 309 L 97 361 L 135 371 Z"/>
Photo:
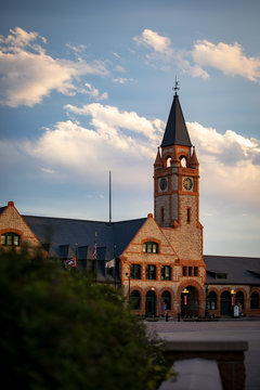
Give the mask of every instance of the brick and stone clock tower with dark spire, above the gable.
<path id="1" fill-rule="evenodd" d="M 199 165 L 182 114 L 178 82 L 174 89 L 154 164 L 154 214 L 161 227 L 177 229 L 199 224 Z"/>

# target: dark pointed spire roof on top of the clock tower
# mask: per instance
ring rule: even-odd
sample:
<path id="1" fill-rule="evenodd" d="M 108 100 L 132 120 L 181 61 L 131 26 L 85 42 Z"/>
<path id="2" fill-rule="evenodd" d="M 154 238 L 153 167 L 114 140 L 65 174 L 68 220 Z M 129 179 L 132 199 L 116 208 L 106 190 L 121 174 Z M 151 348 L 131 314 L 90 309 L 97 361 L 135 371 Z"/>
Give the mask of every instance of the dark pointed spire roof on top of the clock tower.
<path id="1" fill-rule="evenodd" d="M 172 145 L 192 146 L 178 94 L 174 94 L 160 146 Z"/>

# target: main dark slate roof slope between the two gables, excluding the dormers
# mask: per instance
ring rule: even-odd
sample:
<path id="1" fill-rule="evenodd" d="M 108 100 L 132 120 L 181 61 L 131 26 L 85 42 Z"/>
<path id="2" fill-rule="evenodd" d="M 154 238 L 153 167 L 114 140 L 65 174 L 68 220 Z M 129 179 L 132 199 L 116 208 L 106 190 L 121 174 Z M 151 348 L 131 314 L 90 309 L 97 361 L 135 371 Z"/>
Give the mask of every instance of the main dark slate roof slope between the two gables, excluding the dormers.
<path id="1" fill-rule="evenodd" d="M 77 255 L 82 258 L 87 257 L 87 251 L 90 256 L 94 247 L 95 232 L 98 232 L 98 259 L 105 258 L 106 260 L 121 255 L 146 220 L 141 218 L 109 223 L 65 218 L 22 217 L 41 244 L 50 245 L 49 252 L 61 258 L 66 257 L 69 250 L 75 253 L 78 251 Z"/>

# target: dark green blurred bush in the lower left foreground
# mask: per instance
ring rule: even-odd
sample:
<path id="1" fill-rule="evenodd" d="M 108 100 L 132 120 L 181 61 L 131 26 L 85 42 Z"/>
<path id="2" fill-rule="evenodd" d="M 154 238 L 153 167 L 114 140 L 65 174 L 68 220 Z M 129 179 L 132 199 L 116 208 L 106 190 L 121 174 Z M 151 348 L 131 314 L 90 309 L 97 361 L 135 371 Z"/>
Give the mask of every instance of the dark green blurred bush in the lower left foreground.
<path id="1" fill-rule="evenodd" d="M 8 388 L 150 390 L 167 375 L 121 295 L 40 253 L 0 253 L 0 326 Z"/>

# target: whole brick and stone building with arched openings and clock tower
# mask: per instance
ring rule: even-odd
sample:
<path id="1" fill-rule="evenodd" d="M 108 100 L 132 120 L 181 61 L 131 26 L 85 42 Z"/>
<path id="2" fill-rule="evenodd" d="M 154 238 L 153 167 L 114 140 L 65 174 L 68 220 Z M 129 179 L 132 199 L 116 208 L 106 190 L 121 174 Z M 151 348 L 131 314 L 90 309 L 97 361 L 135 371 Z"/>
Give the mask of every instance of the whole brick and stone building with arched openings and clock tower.
<path id="1" fill-rule="evenodd" d="M 260 259 L 203 253 L 199 164 L 177 93 L 154 162 L 154 216 L 112 223 L 31 217 L 10 202 L 0 208 L 0 235 L 3 247 L 27 242 L 49 257 L 77 258 L 99 283 L 121 286 L 136 314 L 205 315 L 207 307 L 232 315 L 237 304 L 260 315 Z"/>

